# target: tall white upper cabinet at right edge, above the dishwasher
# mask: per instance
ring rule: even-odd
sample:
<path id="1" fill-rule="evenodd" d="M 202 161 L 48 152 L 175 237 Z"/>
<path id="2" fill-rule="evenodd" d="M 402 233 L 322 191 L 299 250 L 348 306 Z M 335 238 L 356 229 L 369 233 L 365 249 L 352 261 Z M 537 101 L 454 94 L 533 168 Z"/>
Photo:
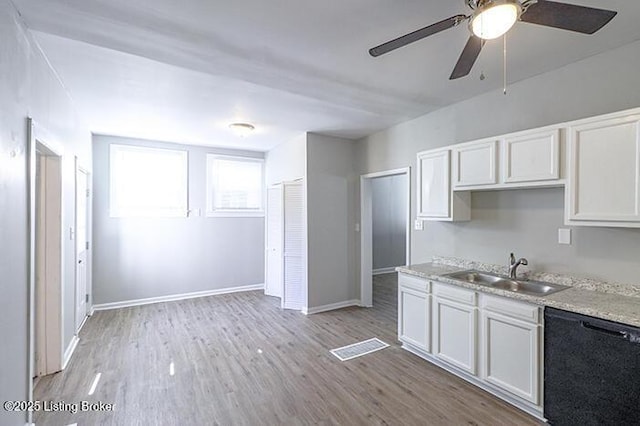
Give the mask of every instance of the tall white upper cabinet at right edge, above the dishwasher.
<path id="1" fill-rule="evenodd" d="M 570 225 L 640 227 L 640 110 L 571 123 Z"/>

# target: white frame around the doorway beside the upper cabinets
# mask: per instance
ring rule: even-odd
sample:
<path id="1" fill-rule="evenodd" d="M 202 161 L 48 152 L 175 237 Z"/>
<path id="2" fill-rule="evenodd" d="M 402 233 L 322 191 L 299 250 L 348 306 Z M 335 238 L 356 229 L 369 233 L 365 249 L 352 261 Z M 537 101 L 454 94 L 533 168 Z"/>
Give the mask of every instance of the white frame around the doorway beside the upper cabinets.
<path id="1" fill-rule="evenodd" d="M 373 306 L 373 196 L 371 182 L 375 178 L 406 175 L 407 225 L 406 264 L 411 263 L 411 167 L 360 175 L 360 306 Z"/>

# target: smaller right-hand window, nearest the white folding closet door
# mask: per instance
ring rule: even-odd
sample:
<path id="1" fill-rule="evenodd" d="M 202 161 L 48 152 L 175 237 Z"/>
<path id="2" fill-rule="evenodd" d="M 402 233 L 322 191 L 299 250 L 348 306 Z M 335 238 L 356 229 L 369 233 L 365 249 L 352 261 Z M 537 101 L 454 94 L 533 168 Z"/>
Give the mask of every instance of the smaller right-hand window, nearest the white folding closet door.
<path id="1" fill-rule="evenodd" d="M 263 216 L 264 161 L 207 154 L 207 216 Z"/>

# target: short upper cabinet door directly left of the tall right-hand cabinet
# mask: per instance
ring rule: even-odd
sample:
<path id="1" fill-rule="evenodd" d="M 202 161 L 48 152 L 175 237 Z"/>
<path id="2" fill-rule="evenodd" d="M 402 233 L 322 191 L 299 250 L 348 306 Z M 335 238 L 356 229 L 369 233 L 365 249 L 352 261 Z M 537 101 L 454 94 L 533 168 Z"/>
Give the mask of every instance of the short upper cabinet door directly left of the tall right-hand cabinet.
<path id="1" fill-rule="evenodd" d="M 505 183 L 560 178 L 560 130 L 508 136 L 502 144 L 502 176 Z"/>

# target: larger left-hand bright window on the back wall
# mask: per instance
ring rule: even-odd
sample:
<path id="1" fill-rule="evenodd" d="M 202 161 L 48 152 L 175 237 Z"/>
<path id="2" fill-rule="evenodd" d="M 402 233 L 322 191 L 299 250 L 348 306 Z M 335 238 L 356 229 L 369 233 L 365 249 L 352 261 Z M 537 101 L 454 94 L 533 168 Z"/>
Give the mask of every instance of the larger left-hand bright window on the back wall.
<path id="1" fill-rule="evenodd" d="M 111 145 L 111 217 L 187 216 L 187 151 Z"/>

